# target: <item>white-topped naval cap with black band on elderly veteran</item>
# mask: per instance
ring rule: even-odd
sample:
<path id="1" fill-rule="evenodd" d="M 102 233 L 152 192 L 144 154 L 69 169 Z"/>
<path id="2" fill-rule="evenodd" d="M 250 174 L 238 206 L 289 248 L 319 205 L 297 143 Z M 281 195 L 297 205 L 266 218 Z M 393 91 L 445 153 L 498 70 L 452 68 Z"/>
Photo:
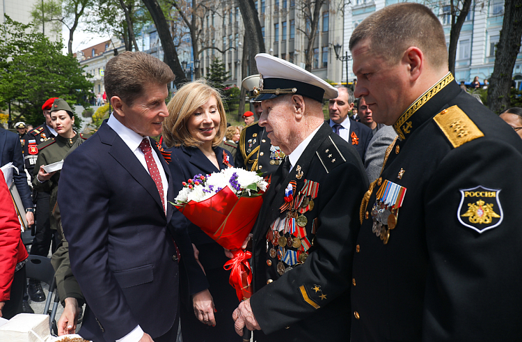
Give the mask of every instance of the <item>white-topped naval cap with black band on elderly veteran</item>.
<path id="1" fill-rule="evenodd" d="M 269 54 L 255 55 L 260 72 L 256 101 L 269 100 L 279 95 L 297 94 L 322 102 L 323 98 L 338 97 L 337 89 L 311 72 Z"/>

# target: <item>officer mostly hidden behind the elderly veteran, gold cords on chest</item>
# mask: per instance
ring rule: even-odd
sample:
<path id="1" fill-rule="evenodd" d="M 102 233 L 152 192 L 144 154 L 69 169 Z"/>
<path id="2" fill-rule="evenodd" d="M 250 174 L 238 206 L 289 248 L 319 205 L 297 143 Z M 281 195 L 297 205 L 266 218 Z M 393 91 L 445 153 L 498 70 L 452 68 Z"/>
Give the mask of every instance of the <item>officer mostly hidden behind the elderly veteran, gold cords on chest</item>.
<path id="1" fill-rule="evenodd" d="M 248 76 L 242 86 L 249 91 L 250 102 L 253 104 L 255 115 L 261 116 L 261 102 L 255 100 L 254 90 L 260 86 L 260 75 Z M 247 125 L 241 131 L 237 143 L 237 157 L 235 164 L 248 171 L 261 171 L 264 176 L 270 176 L 285 159 L 285 153 L 278 147 L 272 146 L 267 132 L 258 121 Z"/>

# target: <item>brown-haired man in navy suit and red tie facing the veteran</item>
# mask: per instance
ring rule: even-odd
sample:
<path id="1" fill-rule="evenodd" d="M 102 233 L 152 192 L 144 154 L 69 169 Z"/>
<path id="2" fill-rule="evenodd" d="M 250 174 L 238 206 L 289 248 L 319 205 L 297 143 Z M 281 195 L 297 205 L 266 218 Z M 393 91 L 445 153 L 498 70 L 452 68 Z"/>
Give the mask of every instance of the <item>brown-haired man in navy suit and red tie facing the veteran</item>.
<path id="1" fill-rule="evenodd" d="M 149 138 L 161 134 L 173 79 L 168 65 L 143 52 L 111 59 L 104 83 L 114 111 L 61 171 L 63 232 L 88 305 L 85 339 L 175 341 L 178 256 L 168 234 L 174 194 Z"/>

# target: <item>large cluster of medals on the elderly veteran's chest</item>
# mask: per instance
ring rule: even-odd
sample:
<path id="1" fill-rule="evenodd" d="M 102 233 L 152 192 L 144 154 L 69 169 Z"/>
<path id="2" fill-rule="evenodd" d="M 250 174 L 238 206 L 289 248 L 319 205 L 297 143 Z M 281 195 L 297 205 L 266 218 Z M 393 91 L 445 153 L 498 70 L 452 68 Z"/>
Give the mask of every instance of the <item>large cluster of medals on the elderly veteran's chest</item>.
<path id="1" fill-rule="evenodd" d="M 313 238 L 306 233 L 308 219 L 305 214 L 313 210 L 314 199 L 319 192 L 319 183 L 305 180 L 303 189 L 295 194 L 296 182 L 292 180 L 285 189 L 285 203 L 281 205 L 281 213 L 284 217 L 278 217 L 271 224 L 267 233 L 267 253 L 270 258 L 277 258 L 277 272 L 283 275 L 292 270 L 296 265 L 302 264 L 308 258 L 308 250 L 313 246 Z M 315 236 L 318 220 L 312 220 L 311 233 Z M 271 266 L 269 259 L 267 265 Z"/>

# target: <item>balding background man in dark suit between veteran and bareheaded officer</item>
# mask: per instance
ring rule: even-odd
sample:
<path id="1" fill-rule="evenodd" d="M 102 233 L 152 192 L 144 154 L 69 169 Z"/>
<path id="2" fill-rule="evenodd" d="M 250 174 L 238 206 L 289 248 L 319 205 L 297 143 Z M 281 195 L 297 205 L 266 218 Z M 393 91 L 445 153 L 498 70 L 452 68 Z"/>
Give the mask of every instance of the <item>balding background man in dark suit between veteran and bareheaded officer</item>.
<path id="1" fill-rule="evenodd" d="M 372 130 L 362 123 L 350 120 L 348 116 L 351 109 L 354 108 L 354 93 L 345 87 L 338 88 L 338 91 L 338 98 L 329 101 L 330 120 L 328 123 L 334 133 L 339 134 L 342 139 L 354 146 L 364 164 L 366 149 L 373 137 Z"/>

